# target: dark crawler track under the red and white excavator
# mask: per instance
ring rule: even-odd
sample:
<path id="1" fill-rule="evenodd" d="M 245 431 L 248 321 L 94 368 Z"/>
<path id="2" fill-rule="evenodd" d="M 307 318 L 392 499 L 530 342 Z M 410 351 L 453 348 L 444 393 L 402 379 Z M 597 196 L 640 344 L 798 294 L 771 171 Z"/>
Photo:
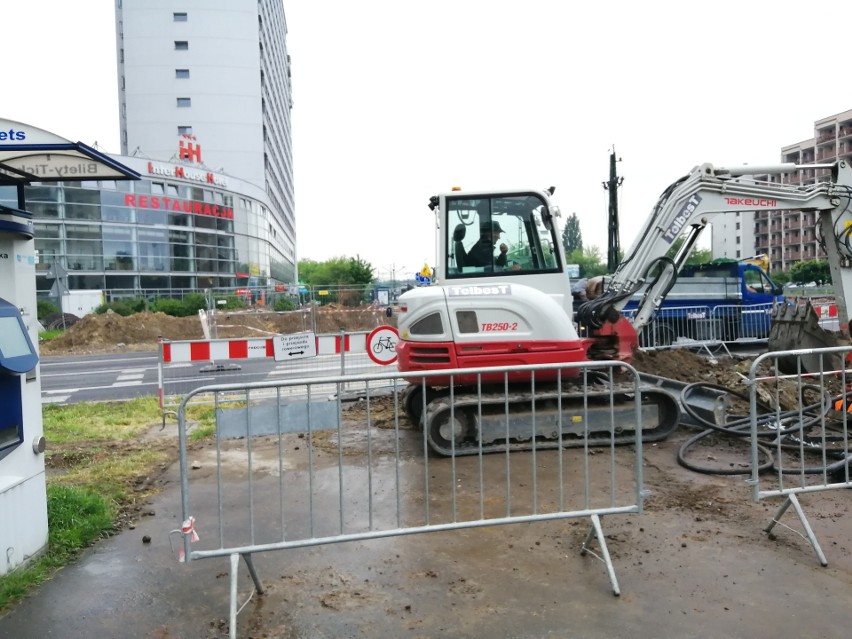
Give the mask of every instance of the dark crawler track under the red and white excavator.
<path id="1" fill-rule="evenodd" d="M 635 444 L 636 390 L 632 383 L 536 388 L 534 396 L 455 389 L 429 401 L 421 425 L 430 448 L 444 456 Z M 639 393 L 642 441 L 665 439 L 680 421 L 678 399 L 652 385 Z"/>

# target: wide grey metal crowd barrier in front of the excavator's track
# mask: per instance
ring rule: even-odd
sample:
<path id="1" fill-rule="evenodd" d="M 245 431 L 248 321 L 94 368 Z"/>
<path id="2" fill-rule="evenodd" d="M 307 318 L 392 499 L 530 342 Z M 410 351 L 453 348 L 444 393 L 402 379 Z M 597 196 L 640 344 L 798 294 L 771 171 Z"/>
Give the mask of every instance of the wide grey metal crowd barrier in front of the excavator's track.
<path id="1" fill-rule="evenodd" d="M 485 371 L 503 376 L 499 390 L 481 383 Z M 622 372 L 616 384 L 617 371 Z M 510 391 L 508 380 L 519 374 L 532 377 L 531 395 L 522 413 L 510 415 L 509 402 L 517 391 Z M 536 382 L 537 375 L 544 379 L 548 374 L 558 378 L 549 386 Z M 527 450 L 484 454 L 480 443 L 464 456 L 431 451 L 427 429 L 412 426 L 404 416 L 403 388 L 408 381 L 422 384 L 426 397 L 434 375 L 452 376 L 450 388 L 456 375 L 475 375 L 479 383 L 465 399 L 476 407 L 476 424 L 481 428 L 484 423 L 486 403 L 488 417 L 505 423 L 507 434 L 510 424 L 528 433 L 518 436 L 513 430 L 513 441 L 526 440 Z M 601 384 L 610 390 L 596 395 L 595 409 L 586 391 Z M 605 564 L 618 595 L 601 517 L 642 511 L 641 431 L 647 427 L 647 407 L 638 384 L 631 367 L 600 362 L 421 372 L 410 379 L 397 372 L 330 376 L 190 391 L 177 411 L 184 518 L 183 527 L 173 531 L 180 542 L 178 556 L 182 561 L 230 558 L 231 637 L 236 637 L 242 609 L 237 602 L 240 557 L 255 591 L 262 593 L 254 554 L 425 532 L 588 518 L 580 553 Z M 323 390 L 329 386 L 338 391 L 330 396 Z M 343 386 L 359 401 L 346 401 Z M 564 391 L 569 387 L 576 394 Z M 500 397 L 496 404 L 486 388 Z M 460 397 L 447 392 L 449 412 L 440 432 L 454 442 L 453 431 L 465 417 Z M 202 395 L 215 406 L 217 429 L 215 450 L 202 467 L 215 470 L 190 476 L 186 411 Z M 425 400 L 421 409 L 428 414 Z M 595 424 L 593 436 L 590 424 Z M 628 435 L 625 442 L 624 431 L 630 429 L 635 437 Z M 542 432 L 558 438 L 567 434 L 571 446 L 540 444 Z M 630 445 L 616 446 L 617 438 Z M 196 461 L 198 452 L 193 455 Z"/>

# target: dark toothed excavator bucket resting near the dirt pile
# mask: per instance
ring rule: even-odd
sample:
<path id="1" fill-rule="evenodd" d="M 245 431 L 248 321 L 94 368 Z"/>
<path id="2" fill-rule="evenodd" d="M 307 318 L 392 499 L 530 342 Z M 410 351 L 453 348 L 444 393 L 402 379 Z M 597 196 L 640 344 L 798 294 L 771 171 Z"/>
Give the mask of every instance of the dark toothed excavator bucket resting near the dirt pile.
<path id="1" fill-rule="evenodd" d="M 787 298 L 772 308 L 769 343 L 767 350 L 792 351 L 799 349 L 831 348 L 841 346 L 839 333 L 827 331 L 819 325 L 819 316 L 807 298 Z M 779 357 L 778 369 L 786 375 L 818 373 L 842 367 L 843 358 L 838 353 L 831 355 L 803 355 L 802 368 L 798 368 L 795 357 Z"/>

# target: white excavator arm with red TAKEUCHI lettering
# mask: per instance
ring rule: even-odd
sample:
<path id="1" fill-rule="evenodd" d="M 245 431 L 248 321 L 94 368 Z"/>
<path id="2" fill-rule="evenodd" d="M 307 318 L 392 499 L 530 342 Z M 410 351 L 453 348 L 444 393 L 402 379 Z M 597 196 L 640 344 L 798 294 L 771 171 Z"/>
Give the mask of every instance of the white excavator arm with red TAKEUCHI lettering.
<path id="1" fill-rule="evenodd" d="M 799 169 L 830 169 L 830 181 L 809 185 L 770 182 L 765 176 Z M 580 324 L 593 329 L 614 321 L 631 296 L 647 284 L 633 319 L 637 332 L 653 320 L 702 231 L 720 214 L 742 211 L 815 211 L 838 297 L 841 326 L 848 325 L 845 300 L 852 299 L 852 168 L 836 164 L 714 167 L 702 164 L 663 191 L 648 220 L 603 294 L 577 309 Z M 672 243 L 684 241 L 674 258 Z M 846 293 L 849 293 L 849 297 Z"/>

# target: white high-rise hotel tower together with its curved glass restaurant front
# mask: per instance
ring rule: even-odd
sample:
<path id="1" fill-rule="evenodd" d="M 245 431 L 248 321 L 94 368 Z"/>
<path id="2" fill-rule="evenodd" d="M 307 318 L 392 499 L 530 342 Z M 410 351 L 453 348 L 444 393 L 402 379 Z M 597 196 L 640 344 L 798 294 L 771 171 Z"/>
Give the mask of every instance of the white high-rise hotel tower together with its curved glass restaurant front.
<path id="1" fill-rule="evenodd" d="M 26 187 L 40 294 L 57 294 L 54 264 L 64 290 L 107 299 L 295 282 L 282 0 L 115 0 L 115 20 L 109 155 L 142 179 Z"/>

